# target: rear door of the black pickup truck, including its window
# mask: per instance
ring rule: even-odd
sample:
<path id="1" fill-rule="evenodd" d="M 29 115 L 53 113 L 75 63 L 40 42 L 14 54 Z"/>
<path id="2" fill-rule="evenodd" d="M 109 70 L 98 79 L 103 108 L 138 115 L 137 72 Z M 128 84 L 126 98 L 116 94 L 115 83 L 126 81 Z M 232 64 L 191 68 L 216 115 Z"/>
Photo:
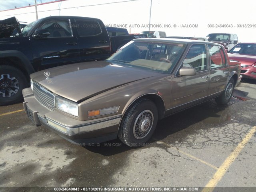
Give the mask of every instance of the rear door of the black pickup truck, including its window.
<path id="1" fill-rule="evenodd" d="M 110 38 L 102 22 L 90 18 L 74 20 L 82 61 L 104 60 L 111 54 Z"/>

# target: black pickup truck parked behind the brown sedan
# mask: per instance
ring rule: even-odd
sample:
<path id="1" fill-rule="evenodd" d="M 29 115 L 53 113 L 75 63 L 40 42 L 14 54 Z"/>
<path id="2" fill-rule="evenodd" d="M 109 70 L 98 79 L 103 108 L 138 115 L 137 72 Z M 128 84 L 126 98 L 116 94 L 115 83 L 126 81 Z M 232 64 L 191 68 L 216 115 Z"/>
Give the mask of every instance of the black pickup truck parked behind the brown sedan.
<path id="1" fill-rule="evenodd" d="M 18 33 L 12 36 L 13 30 Z M 0 105 L 22 99 L 29 75 L 77 62 L 104 60 L 117 48 L 145 35 L 108 36 L 96 18 L 50 16 L 21 30 L 15 17 L 0 21 Z"/>

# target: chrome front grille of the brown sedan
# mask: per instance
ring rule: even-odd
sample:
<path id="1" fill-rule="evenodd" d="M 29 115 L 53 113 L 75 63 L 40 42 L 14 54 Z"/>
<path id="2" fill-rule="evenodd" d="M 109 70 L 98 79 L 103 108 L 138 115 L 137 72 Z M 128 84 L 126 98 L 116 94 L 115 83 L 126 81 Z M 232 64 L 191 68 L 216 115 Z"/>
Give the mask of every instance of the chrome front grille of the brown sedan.
<path id="1" fill-rule="evenodd" d="M 54 94 L 52 94 L 50 91 L 46 90 L 46 88 L 42 87 L 37 83 L 33 84 L 33 93 L 38 102 L 40 102 L 40 104 L 46 106 L 51 110 L 54 110 Z"/>

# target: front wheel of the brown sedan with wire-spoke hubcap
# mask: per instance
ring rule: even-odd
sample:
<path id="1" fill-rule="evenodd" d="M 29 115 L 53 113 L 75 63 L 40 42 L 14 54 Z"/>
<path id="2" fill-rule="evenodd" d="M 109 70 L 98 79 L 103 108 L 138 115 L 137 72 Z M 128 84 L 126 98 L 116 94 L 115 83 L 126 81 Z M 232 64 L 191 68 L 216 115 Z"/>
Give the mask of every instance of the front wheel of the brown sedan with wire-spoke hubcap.
<path id="1" fill-rule="evenodd" d="M 142 146 L 154 133 L 157 120 L 156 105 L 151 100 L 140 99 L 124 114 L 118 130 L 118 137 L 130 147 Z"/>

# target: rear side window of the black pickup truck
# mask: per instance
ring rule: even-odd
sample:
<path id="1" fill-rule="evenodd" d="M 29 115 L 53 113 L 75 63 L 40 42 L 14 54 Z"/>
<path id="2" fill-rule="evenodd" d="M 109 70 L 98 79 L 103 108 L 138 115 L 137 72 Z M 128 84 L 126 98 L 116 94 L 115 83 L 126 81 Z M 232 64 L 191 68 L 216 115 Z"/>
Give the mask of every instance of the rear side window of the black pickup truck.
<path id="1" fill-rule="evenodd" d="M 95 36 L 102 33 L 100 24 L 97 21 L 76 20 L 76 25 L 76 29 L 80 37 Z"/>

